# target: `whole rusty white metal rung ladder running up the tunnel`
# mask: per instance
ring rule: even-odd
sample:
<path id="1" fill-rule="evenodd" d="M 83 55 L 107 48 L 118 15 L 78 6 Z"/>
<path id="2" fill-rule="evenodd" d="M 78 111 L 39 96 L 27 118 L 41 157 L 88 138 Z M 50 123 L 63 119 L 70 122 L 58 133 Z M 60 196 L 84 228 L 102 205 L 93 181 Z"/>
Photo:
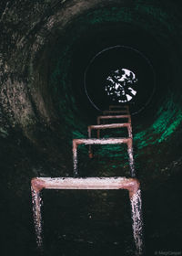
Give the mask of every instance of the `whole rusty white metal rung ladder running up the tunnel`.
<path id="1" fill-rule="evenodd" d="M 106 120 L 127 119 L 127 123 L 105 123 Z M 100 130 L 127 128 L 128 136 L 126 138 L 100 138 Z M 92 130 L 97 131 L 97 138 L 92 138 Z M 79 144 L 89 145 L 88 156 L 94 157 L 91 146 L 93 144 L 126 144 L 127 154 L 130 165 L 130 178 L 126 177 L 78 177 L 77 168 L 77 149 Z M 131 115 L 129 107 L 109 106 L 109 110 L 104 111 L 103 115 L 97 117 L 96 125 L 88 126 L 88 139 L 73 140 L 73 163 L 75 177 L 35 177 L 31 181 L 33 213 L 35 221 L 35 233 L 37 247 L 43 250 L 42 236 L 42 215 L 41 215 L 41 190 L 45 189 L 126 189 L 128 190 L 130 205 L 133 236 L 136 244 L 136 255 L 143 255 L 143 220 L 142 220 L 142 201 L 140 184 L 136 179 L 136 172 L 133 157 L 133 137 L 131 126 Z"/>

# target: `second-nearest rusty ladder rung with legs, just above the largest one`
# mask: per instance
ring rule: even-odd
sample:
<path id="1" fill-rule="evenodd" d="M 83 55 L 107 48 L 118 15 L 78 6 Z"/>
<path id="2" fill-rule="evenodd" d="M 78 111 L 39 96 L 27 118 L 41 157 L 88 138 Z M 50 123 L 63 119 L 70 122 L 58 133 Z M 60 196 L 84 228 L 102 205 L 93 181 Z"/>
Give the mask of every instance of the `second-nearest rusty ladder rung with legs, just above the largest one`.
<path id="1" fill-rule="evenodd" d="M 133 140 L 132 138 L 109 138 L 109 139 L 74 139 L 73 140 L 73 162 L 74 162 L 74 175 L 78 175 L 77 170 L 77 146 L 79 144 L 127 144 L 127 154 L 129 158 L 130 173 L 132 177 L 136 176 L 134 168 L 134 157 L 133 157 Z M 89 155 L 92 151 L 89 152 Z"/>

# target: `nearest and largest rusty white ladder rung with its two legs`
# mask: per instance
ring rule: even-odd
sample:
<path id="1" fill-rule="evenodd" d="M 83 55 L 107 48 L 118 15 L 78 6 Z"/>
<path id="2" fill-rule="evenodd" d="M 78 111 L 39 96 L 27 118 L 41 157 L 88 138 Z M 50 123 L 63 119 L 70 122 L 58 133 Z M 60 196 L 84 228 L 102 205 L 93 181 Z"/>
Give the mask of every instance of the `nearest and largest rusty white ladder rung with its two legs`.
<path id="1" fill-rule="evenodd" d="M 43 251 L 43 227 L 41 215 L 41 190 L 45 189 L 126 189 L 129 192 L 133 236 L 136 255 L 142 255 L 144 248 L 140 185 L 136 178 L 126 177 L 35 177 L 31 181 L 36 243 Z"/>

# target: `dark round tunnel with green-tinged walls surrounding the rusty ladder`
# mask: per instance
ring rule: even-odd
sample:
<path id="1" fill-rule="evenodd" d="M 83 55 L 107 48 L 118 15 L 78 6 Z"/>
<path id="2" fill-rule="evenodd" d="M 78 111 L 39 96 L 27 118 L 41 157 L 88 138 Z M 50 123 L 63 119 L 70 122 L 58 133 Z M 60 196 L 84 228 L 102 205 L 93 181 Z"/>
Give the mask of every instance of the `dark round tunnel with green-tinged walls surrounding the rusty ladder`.
<path id="1" fill-rule="evenodd" d="M 177 0 L 1 1 L 3 255 L 39 255 L 30 180 L 73 176 L 72 140 L 112 103 L 131 111 L 146 255 L 182 254 L 181 11 Z M 123 101 L 106 94 L 117 70 L 136 78 Z M 125 149 L 95 150 L 80 147 L 80 176 L 129 176 Z M 44 255 L 134 255 L 127 194 L 43 197 Z"/>

